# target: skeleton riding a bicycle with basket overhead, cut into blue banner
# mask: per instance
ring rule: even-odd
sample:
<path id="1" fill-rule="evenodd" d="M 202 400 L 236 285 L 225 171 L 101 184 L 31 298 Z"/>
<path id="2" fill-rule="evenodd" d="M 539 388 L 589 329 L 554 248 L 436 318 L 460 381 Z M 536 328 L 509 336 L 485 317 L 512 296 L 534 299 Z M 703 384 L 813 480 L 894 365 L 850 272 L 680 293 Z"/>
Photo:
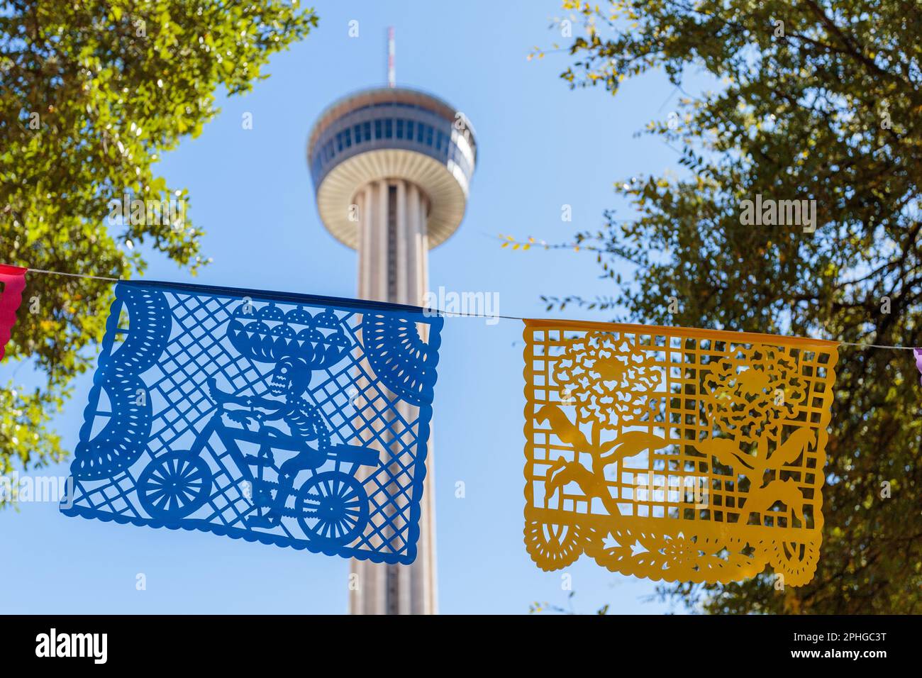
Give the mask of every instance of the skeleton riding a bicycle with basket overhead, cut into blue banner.
<path id="1" fill-rule="evenodd" d="M 228 337 L 243 355 L 276 363 L 268 377 L 270 397 L 247 395 L 243 391 L 249 387 L 226 392 L 210 377 L 207 388 L 217 410 L 189 450 L 154 458 L 141 471 L 137 479 L 141 506 L 167 525 L 178 524 L 205 506 L 214 480 L 202 452 L 217 435 L 242 474 L 237 482 L 249 482 L 253 488 L 255 514 L 245 518 L 247 528 L 273 529 L 283 517 L 293 517 L 312 541 L 349 544 L 361 536 L 369 520 L 368 494 L 356 472 L 361 466 L 378 466 L 378 452 L 332 444 L 323 414 L 304 397 L 313 370 L 337 363 L 349 350 L 349 342 L 332 312 L 312 317 L 297 309 L 294 317 L 291 312 L 278 318 L 272 317 L 278 309 L 270 304 L 244 327 L 242 316 L 252 312 L 243 308 L 231 320 Z M 283 322 L 270 328 L 267 319 Z M 295 333 L 291 325 L 305 328 Z M 288 433 L 274 422 L 284 425 Z M 242 443 L 258 451 L 247 454 Z M 277 455 L 281 454 L 288 458 L 279 463 Z M 329 461 L 333 469 L 321 471 Z M 278 481 L 268 480 L 266 470 L 274 470 Z M 296 479 L 304 471 L 310 476 L 295 490 Z M 294 506 L 288 506 L 292 496 Z"/>

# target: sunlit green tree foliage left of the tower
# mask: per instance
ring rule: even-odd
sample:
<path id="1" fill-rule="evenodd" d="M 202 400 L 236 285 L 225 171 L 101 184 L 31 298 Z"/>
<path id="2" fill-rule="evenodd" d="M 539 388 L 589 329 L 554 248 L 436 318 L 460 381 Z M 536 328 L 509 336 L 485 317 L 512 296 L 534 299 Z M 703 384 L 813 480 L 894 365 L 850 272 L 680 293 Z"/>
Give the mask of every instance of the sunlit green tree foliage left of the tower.
<path id="1" fill-rule="evenodd" d="M 218 113 L 219 86 L 248 91 L 316 24 L 288 0 L 0 0 L 0 260 L 128 278 L 148 244 L 195 272 L 202 232 L 187 214 L 113 225 L 111 202 L 182 207 L 186 192 L 154 171 L 160 153 Z M 49 421 L 92 364 L 110 302 L 104 281 L 27 278 L 6 355 L 47 379 L 0 391 L 0 473 L 65 455 Z"/>

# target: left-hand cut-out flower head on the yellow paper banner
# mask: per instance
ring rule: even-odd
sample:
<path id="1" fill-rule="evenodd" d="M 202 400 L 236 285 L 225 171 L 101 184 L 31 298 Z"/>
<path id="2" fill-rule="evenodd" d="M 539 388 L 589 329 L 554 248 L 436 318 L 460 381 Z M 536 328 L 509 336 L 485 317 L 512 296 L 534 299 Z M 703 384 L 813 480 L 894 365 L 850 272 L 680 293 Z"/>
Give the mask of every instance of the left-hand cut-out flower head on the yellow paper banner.
<path id="1" fill-rule="evenodd" d="M 644 347 L 600 332 L 566 342 L 553 376 L 563 404 L 575 405 L 578 422 L 608 430 L 655 414 L 653 394 L 663 380 Z"/>

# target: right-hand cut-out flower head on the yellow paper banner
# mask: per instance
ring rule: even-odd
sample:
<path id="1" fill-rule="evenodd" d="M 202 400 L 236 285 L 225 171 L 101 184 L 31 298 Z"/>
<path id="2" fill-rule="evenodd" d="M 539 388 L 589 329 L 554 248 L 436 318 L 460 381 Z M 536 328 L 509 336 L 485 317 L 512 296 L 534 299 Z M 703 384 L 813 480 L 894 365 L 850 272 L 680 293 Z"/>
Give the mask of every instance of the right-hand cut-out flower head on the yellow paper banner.
<path id="1" fill-rule="evenodd" d="M 739 441 L 777 437 L 778 422 L 797 419 L 806 393 L 797 361 L 783 349 L 759 345 L 727 356 L 704 378 L 710 421 Z"/>

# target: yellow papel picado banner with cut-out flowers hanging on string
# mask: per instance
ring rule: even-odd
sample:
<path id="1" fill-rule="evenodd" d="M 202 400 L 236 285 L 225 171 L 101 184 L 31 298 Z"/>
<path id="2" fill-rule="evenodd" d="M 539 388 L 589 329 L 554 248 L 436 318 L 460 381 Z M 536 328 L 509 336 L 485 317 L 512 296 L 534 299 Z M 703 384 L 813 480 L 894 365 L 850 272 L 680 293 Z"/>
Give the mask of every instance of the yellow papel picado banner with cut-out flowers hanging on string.
<path id="1" fill-rule="evenodd" d="M 545 570 L 729 582 L 816 569 L 837 344 L 526 320 L 525 541 Z M 781 578 L 783 577 L 783 578 Z"/>

